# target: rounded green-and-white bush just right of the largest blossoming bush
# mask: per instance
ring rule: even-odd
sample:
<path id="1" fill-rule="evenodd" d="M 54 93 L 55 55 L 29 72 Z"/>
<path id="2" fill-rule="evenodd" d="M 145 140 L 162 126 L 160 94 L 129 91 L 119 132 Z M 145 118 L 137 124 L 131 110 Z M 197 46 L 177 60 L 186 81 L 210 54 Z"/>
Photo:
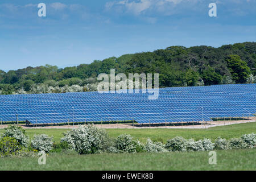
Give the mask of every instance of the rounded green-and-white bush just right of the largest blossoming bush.
<path id="1" fill-rule="evenodd" d="M 135 153 L 136 146 L 131 135 L 122 134 L 115 140 L 115 147 L 119 153 Z"/>

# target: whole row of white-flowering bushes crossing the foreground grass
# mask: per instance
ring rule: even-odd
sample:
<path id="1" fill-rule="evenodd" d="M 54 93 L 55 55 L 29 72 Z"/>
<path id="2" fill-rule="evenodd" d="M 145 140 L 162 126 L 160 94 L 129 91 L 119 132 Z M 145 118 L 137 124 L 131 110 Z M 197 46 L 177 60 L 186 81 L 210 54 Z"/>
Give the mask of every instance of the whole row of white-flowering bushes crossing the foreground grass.
<path id="1" fill-rule="evenodd" d="M 135 153 L 135 152 L 174 152 L 174 151 L 209 151 L 255 148 L 256 134 L 244 134 L 240 138 L 226 140 L 218 137 L 213 143 L 210 139 L 184 139 L 175 137 L 168 139 L 166 144 L 153 142 L 150 138 L 146 143 L 133 140 L 128 134 L 110 138 L 105 130 L 93 125 L 80 125 L 77 129 L 67 131 L 60 143 L 53 143 L 52 137 L 45 134 L 34 135 L 31 144 L 25 130 L 19 126 L 9 126 L 0 135 L 0 156 L 35 156 L 38 151 L 63 154 L 95 154 L 100 152 Z M 75 153 L 74 153 L 75 152 Z"/>

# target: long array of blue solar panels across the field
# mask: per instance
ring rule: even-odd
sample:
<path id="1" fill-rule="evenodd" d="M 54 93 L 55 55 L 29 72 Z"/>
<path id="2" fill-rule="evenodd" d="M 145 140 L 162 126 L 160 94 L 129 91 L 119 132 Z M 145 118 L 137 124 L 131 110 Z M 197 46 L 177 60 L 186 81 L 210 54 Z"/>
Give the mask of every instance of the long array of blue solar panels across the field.
<path id="1" fill-rule="evenodd" d="M 256 113 L 256 84 L 159 89 L 151 93 L 52 93 L 0 96 L 2 121 L 31 123 L 137 121 L 138 123 L 210 121 Z"/>

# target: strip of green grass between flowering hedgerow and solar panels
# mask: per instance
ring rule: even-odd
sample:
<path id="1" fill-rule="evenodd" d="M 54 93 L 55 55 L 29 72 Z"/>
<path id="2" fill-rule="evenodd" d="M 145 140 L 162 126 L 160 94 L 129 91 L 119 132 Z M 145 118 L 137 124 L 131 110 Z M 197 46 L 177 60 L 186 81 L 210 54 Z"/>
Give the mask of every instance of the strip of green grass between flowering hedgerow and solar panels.
<path id="1" fill-rule="evenodd" d="M 26 133 L 32 138 L 35 134 L 47 134 L 53 136 L 55 142 L 59 142 L 63 133 L 68 129 L 26 129 Z M 184 138 L 193 138 L 199 140 L 202 138 L 216 139 L 222 137 L 226 139 L 241 137 L 242 134 L 256 133 L 256 122 L 241 123 L 228 126 L 212 127 L 210 129 L 106 129 L 110 137 L 117 137 L 121 134 L 130 134 L 134 139 L 145 142 L 148 137 L 152 140 L 166 142 L 167 139 L 176 136 Z M 0 130 L 0 133 L 3 130 Z"/>

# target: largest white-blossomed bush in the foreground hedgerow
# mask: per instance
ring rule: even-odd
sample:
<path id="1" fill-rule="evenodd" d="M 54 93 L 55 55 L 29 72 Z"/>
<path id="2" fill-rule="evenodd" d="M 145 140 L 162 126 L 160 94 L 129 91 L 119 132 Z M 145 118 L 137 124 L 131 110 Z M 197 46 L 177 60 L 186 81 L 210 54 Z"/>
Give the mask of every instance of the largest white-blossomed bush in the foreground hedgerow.
<path id="1" fill-rule="evenodd" d="M 79 154 L 94 154 L 106 147 L 105 137 L 105 130 L 93 125 L 80 125 L 77 129 L 64 133 L 61 142 L 67 142 L 69 148 L 76 150 Z"/>

